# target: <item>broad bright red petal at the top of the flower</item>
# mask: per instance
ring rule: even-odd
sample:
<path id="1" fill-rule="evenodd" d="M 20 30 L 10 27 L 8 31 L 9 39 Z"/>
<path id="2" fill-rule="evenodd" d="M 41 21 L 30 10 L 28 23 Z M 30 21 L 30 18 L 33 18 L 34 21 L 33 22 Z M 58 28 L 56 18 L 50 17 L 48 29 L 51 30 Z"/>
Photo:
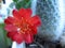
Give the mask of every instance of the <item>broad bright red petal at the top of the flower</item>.
<path id="1" fill-rule="evenodd" d="M 31 10 L 30 9 L 21 9 L 20 14 L 25 18 L 28 19 L 31 16 Z"/>

